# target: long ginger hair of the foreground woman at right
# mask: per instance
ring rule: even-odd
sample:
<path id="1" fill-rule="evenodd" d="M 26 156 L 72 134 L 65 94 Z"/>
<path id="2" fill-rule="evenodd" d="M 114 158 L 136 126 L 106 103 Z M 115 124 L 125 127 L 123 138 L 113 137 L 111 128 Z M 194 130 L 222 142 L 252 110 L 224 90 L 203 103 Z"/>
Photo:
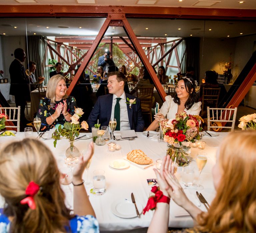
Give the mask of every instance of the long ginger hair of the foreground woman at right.
<path id="1" fill-rule="evenodd" d="M 256 232 L 256 131 L 230 133 L 220 147 L 221 180 L 208 213 L 198 215 L 201 230 Z"/>

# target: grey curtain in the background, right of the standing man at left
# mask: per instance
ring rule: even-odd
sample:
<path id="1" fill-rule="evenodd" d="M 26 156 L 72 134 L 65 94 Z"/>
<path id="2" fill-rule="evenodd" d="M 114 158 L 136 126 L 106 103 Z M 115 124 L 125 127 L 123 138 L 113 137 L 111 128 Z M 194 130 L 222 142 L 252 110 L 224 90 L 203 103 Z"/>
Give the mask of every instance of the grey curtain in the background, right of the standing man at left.
<path id="1" fill-rule="evenodd" d="M 28 62 L 33 61 L 36 65 L 36 78 L 45 77 L 45 83 L 47 83 L 48 72 L 45 65 L 46 53 L 46 41 L 43 36 L 28 36 Z M 46 57 L 47 58 L 47 57 Z"/>

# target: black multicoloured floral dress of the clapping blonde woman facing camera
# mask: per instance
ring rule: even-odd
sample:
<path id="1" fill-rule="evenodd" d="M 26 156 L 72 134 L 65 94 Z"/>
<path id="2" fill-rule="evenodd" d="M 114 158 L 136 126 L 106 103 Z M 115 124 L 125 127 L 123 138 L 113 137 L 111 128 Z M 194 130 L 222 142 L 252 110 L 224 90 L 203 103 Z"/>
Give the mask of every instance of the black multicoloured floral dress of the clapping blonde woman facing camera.
<path id="1" fill-rule="evenodd" d="M 65 117 L 60 114 L 60 116 L 51 124 L 47 124 L 46 118 L 48 116 L 52 116 L 55 113 L 55 109 L 57 108 L 59 103 L 63 103 L 63 99 L 61 101 L 55 101 L 55 104 L 51 103 L 50 99 L 41 98 L 39 103 L 39 108 L 36 114 L 36 117 L 41 118 L 41 127 L 40 131 L 46 131 L 50 128 L 54 127 L 55 124 L 64 124 L 66 122 Z M 73 96 L 69 96 L 67 99 L 67 112 L 70 113 L 72 116 L 75 113 L 75 108 L 77 108 L 76 100 Z"/>

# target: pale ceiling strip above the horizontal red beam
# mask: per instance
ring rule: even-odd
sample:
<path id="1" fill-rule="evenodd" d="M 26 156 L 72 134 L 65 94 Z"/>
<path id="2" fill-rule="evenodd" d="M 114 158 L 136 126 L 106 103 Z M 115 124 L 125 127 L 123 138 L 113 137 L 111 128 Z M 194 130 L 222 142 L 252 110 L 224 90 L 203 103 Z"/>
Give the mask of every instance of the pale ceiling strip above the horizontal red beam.
<path id="1" fill-rule="evenodd" d="M 76 0 L 35 0 L 37 3 L 18 3 L 15 0 L 0 0 L 0 5 L 98 5 L 108 6 L 109 1 L 106 0 L 95 0 L 95 4 L 78 4 Z M 199 0 L 200 1 L 200 0 Z M 214 2 L 214 0 L 203 0 L 201 2 Z M 111 0 L 111 5 L 123 5 L 123 6 L 152 6 L 152 5 L 141 5 L 137 4 L 138 0 Z M 168 6 L 168 7 L 202 7 L 194 6 L 198 0 L 157 0 L 153 6 Z M 255 0 L 245 0 L 244 3 L 238 3 L 238 0 L 216 0 L 216 4 L 207 8 L 229 8 L 229 9 L 256 9 Z"/>

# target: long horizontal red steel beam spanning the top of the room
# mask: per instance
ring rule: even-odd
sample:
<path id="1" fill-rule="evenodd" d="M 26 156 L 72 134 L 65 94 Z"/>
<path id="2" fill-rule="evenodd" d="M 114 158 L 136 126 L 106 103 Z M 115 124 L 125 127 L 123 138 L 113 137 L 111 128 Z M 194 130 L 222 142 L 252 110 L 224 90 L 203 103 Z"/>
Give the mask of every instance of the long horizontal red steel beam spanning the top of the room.
<path id="1" fill-rule="evenodd" d="M 40 6 L 40 7 L 39 7 Z M 193 19 L 255 19 L 255 9 L 220 9 L 157 6 L 96 6 L 96 5 L 0 5 L 1 17 L 107 17 L 123 13 L 128 18 L 193 18 Z"/>

